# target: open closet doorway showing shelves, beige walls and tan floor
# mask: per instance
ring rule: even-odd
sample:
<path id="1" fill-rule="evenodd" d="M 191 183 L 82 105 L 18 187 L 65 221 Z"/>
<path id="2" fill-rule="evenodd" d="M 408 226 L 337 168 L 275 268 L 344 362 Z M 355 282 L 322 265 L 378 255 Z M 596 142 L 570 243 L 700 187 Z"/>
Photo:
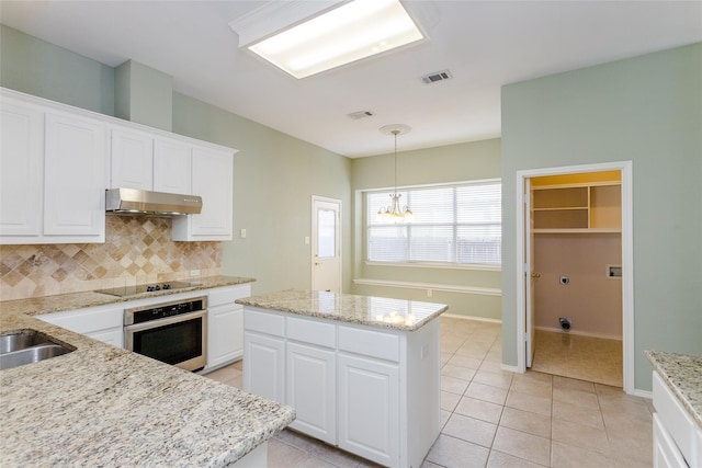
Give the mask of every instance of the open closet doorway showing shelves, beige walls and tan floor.
<path id="1" fill-rule="evenodd" d="M 531 178 L 531 368 L 623 386 L 621 171 Z"/>

